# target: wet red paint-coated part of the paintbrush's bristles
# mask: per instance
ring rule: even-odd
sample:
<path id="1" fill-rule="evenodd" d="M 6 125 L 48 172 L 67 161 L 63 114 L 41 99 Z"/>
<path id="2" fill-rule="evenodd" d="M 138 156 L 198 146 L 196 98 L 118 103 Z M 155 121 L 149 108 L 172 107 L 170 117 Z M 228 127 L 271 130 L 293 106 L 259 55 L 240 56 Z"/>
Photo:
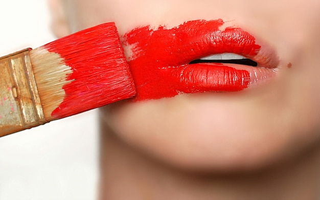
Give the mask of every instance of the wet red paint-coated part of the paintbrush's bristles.
<path id="1" fill-rule="evenodd" d="M 71 116 L 135 94 L 114 23 L 89 28 L 44 46 L 60 55 L 73 71 L 63 86 L 65 98 L 53 111 L 56 119 Z"/>

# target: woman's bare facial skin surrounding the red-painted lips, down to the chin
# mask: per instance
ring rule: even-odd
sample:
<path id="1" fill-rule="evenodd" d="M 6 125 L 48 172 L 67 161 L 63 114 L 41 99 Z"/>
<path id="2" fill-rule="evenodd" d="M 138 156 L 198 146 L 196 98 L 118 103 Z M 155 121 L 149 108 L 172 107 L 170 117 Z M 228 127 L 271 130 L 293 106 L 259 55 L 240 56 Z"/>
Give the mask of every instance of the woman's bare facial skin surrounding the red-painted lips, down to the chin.
<path id="1" fill-rule="evenodd" d="M 55 5 L 55 4 L 54 4 Z M 242 171 L 299 156 L 320 141 L 320 2 L 66 0 L 56 30 L 115 21 L 138 26 L 223 19 L 268 43 L 280 58 L 266 84 L 235 93 L 181 94 L 101 109 L 112 132 L 133 148 L 185 170 Z M 289 67 L 290 66 L 290 67 Z"/>

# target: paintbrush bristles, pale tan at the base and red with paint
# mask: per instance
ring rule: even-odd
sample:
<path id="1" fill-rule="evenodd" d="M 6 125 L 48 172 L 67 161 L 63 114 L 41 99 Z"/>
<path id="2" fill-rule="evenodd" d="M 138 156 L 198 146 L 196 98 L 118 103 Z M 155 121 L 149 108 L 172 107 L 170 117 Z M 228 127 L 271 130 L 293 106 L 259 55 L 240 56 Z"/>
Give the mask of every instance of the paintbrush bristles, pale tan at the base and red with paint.
<path id="1" fill-rule="evenodd" d="M 30 52 L 51 121 L 130 98 L 135 87 L 114 23 L 89 28 Z"/>

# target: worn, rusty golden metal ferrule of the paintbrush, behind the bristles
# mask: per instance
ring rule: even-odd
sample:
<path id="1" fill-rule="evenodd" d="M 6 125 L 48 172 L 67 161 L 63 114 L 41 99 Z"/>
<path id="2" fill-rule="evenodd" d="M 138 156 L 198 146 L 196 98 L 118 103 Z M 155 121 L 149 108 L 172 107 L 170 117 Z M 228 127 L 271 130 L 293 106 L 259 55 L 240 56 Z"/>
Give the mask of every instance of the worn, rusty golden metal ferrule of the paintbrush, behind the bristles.
<path id="1" fill-rule="evenodd" d="M 30 50 L 0 58 L 0 137 L 47 123 L 32 70 Z"/>

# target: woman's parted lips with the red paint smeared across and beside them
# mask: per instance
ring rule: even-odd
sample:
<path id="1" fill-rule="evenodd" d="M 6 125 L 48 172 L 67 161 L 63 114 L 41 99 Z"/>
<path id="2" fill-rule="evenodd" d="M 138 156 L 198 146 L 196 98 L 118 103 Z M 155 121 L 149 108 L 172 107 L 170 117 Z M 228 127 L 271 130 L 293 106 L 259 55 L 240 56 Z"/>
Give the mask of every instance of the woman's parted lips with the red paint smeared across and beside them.
<path id="1" fill-rule="evenodd" d="M 194 20 L 167 29 L 136 28 L 123 36 L 135 81 L 135 100 L 173 97 L 180 93 L 235 92 L 276 74 L 279 60 L 266 45 L 240 29 L 220 30 L 223 21 Z M 235 53 L 258 67 L 191 61 L 212 54 Z"/>

